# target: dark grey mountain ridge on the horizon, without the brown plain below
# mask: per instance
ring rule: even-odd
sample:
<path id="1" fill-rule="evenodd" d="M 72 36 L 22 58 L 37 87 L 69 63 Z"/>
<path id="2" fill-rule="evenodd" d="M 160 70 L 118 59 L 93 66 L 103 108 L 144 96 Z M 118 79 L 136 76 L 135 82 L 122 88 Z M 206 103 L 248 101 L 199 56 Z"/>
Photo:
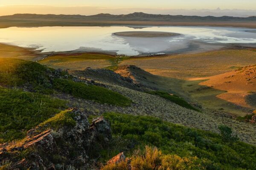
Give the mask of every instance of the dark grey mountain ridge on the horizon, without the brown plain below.
<path id="1" fill-rule="evenodd" d="M 231 21 L 231 22 L 247 22 L 256 21 L 256 16 L 251 17 L 200 17 L 185 15 L 163 15 L 163 14 L 145 14 L 143 12 L 134 12 L 132 14 L 96 14 L 96 15 L 55 15 L 55 14 L 14 14 L 1 16 L 0 20 L 94 20 L 94 21 L 180 21 L 180 22 L 204 22 L 204 21 Z"/>

